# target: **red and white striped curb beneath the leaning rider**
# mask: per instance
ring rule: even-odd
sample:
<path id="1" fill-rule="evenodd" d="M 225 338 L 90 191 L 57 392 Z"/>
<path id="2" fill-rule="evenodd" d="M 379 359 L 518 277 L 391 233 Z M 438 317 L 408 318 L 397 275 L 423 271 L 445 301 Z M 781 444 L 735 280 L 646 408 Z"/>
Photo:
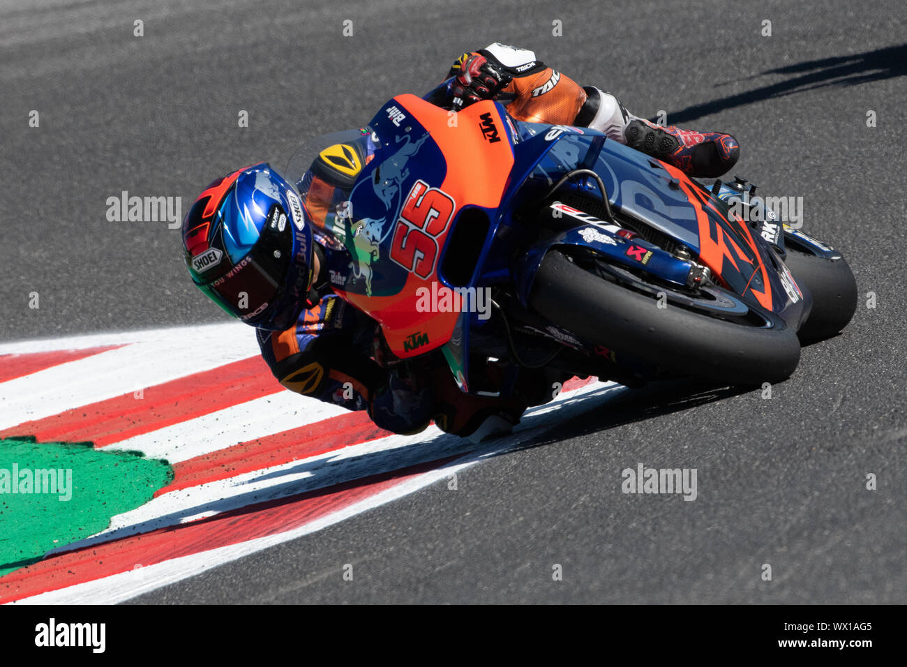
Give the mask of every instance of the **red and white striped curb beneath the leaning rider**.
<path id="1" fill-rule="evenodd" d="M 239 323 L 0 344 L 0 437 L 165 458 L 174 479 L 101 533 L 0 578 L 0 603 L 118 603 L 449 478 L 607 400 L 574 378 L 481 447 L 284 390 Z"/>

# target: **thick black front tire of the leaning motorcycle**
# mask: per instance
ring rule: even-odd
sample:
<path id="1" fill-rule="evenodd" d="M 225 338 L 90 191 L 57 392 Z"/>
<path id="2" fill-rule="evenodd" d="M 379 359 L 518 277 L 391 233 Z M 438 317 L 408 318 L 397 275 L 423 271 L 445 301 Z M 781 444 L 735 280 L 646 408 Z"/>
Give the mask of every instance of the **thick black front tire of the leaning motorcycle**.
<path id="1" fill-rule="evenodd" d="M 730 385 L 779 382 L 794 372 L 800 344 L 794 329 L 767 311 L 719 319 L 606 280 L 558 250 L 536 273 L 530 307 L 590 344 L 658 366 Z"/>

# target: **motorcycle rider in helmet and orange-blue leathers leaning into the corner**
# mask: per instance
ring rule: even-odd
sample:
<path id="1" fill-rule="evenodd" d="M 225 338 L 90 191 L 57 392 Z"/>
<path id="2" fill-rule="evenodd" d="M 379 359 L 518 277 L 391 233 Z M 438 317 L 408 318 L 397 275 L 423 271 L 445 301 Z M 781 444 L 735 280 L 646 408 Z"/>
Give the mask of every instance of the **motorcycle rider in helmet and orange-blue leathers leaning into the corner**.
<path id="1" fill-rule="evenodd" d="M 461 55 L 424 99 L 452 110 L 497 99 L 517 120 L 600 130 L 692 176 L 720 175 L 739 154 L 728 134 L 649 123 L 610 93 L 582 88 L 532 51 L 504 44 Z M 356 172 L 343 165 L 361 168 L 375 146 L 363 132 L 359 141 L 332 148 L 343 160 L 321 152 L 303 177 L 304 200 L 259 163 L 213 181 L 182 224 L 192 280 L 230 315 L 257 328 L 262 357 L 280 384 L 367 410 L 377 426 L 395 433 L 419 432 L 434 419 L 444 431 L 474 440 L 507 432 L 526 407 L 551 400 L 552 386 L 565 378 L 529 369 L 521 370 L 510 397 L 467 396 L 446 368 L 435 372 L 445 366 L 437 351 L 395 358 L 375 321 L 336 295 L 323 267 L 325 246 L 337 241 L 321 228 L 355 181 Z M 352 221 L 344 223 L 346 239 L 359 238 Z M 480 370 L 492 383 L 500 374 L 493 363 Z"/>

